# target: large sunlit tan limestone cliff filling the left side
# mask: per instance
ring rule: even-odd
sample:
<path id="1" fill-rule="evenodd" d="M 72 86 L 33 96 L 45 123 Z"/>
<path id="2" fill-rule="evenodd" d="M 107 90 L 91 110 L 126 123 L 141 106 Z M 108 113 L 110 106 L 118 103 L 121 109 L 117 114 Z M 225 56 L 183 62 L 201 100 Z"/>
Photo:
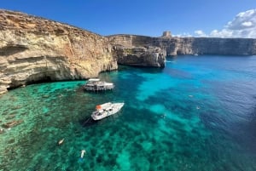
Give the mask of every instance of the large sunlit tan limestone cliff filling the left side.
<path id="1" fill-rule="evenodd" d="M 0 94 L 37 81 L 96 77 L 117 69 L 108 38 L 27 14 L 0 10 Z"/>

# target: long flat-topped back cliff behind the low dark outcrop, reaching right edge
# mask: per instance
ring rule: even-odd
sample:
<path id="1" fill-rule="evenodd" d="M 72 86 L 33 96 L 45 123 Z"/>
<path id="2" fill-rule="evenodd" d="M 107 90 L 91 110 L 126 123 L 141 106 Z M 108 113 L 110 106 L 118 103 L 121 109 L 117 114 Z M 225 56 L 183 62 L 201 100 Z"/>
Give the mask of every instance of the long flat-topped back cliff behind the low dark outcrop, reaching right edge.
<path id="1" fill-rule="evenodd" d="M 256 39 L 213 37 L 143 37 L 115 35 L 109 37 L 113 44 L 125 47 L 154 47 L 160 54 L 256 54 Z M 125 52 L 125 50 L 124 50 Z M 125 56 L 125 53 L 120 53 Z M 119 55 L 118 55 L 119 56 Z M 122 58 L 119 58 L 119 60 Z"/>

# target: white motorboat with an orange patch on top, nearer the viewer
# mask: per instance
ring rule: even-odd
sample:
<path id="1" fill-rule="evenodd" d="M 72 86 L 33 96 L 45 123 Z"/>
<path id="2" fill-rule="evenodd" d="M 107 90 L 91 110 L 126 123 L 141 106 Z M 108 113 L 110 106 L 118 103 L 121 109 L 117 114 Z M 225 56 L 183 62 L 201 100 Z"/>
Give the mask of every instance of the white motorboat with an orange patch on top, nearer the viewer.
<path id="1" fill-rule="evenodd" d="M 120 111 L 125 103 L 104 103 L 102 105 L 96 105 L 96 111 L 93 111 L 91 117 L 93 120 L 101 120 L 104 117 L 108 117 Z"/>

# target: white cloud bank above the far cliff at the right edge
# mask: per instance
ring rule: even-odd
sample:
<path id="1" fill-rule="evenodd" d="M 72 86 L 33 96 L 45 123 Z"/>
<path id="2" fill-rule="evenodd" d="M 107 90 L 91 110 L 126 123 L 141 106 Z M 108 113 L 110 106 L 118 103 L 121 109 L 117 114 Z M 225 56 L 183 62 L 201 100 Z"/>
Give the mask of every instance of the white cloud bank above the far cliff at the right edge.
<path id="1" fill-rule="evenodd" d="M 220 31 L 213 30 L 209 35 L 204 31 L 195 31 L 195 37 L 242 37 L 256 38 L 256 9 L 236 14 Z"/>

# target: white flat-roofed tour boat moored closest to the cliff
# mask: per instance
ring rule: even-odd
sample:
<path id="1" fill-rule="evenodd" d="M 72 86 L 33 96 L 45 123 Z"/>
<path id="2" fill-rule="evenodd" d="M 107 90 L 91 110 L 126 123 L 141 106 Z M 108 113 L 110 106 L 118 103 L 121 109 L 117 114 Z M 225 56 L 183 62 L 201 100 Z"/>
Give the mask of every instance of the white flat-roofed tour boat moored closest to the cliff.
<path id="1" fill-rule="evenodd" d="M 84 84 L 84 89 L 88 91 L 102 91 L 113 88 L 113 83 L 103 82 L 99 78 L 90 78 L 88 82 Z"/>

